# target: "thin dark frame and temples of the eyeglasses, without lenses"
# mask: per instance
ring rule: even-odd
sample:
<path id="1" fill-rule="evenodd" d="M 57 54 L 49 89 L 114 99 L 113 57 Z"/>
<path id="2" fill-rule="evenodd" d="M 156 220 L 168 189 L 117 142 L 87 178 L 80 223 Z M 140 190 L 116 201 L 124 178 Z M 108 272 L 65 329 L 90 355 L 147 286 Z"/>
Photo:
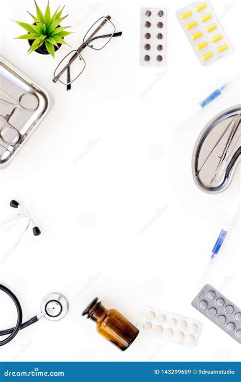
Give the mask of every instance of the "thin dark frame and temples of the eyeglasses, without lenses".
<path id="1" fill-rule="evenodd" d="M 101 20 L 102 18 L 104 18 L 104 20 L 101 22 L 101 24 L 97 27 L 97 29 L 92 33 L 91 36 L 89 36 L 88 40 L 85 41 L 85 37 L 87 36 L 88 32 L 93 28 L 93 26 L 99 21 Z M 54 70 L 54 78 L 52 79 L 52 81 L 54 83 L 56 83 L 57 81 L 61 82 L 63 85 L 67 86 L 67 90 L 70 90 L 71 89 L 71 84 L 80 76 L 80 74 L 83 72 L 83 70 L 85 69 L 85 61 L 83 59 L 83 57 L 81 56 L 80 52 L 86 47 L 88 46 L 89 48 L 92 48 L 92 49 L 95 49 L 95 50 L 101 50 L 103 49 L 107 44 L 108 42 L 112 39 L 112 37 L 118 37 L 118 36 L 121 36 L 122 35 L 122 32 L 117 32 L 115 33 L 115 26 L 114 24 L 112 23 L 112 21 L 110 21 L 110 16 L 102 16 L 100 17 L 96 22 L 94 22 L 94 24 L 92 24 L 91 28 L 88 29 L 88 31 L 85 33 L 84 37 L 83 37 L 83 43 L 78 47 L 78 49 L 76 50 L 72 50 L 71 52 L 69 52 L 64 58 L 63 60 L 58 64 L 58 66 L 56 67 L 56 69 Z M 114 31 L 112 34 L 110 35 L 102 35 L 102 36 L 96 36 L 96 37 L 93 37 L 95 36 L 95 34 L 102 28 L 102 26 L 104 26 L 104 24 L 109 21 L 113 27 L 114 27 Z M 109 40 L 105 43 L 105 45 L 103 45 L 101 48 L 97 49 L 97 48 L 94 48 L 93 45 L 88 45 L 89 43 L 91 43 L 93 40 L 96 40 L 98 38 L 103 38 L 103 37 L 110 37 Z M 71 54 L 72 52 L 75 52 L 73 54 L 73 56 L 71 57 L 70 61 L 68 62 L 68 64 L 58 73 L 55 75 L 55 72 L 57 70 L 57 68 L 59 67 L 59 65 L 61 65 L 61 63 L 66 59 L 66 57 L 69 56 L 69 54 Z M 81 72 L 79 73 L 79 75 L 77 75 L 77 77 L 75 77 L 72 81 L 70 80 L 69 83 L 63 83 L 59 77 L 67 70 L 67 81 L 68 79 L 70 79 L 70 65 L 72 64 L 72 62 L 79 56 L 79 59 L 80 60 L 83 60 L 83 63 L 84 63 L 84 67 L 83 69 L 81 70 Z"/>

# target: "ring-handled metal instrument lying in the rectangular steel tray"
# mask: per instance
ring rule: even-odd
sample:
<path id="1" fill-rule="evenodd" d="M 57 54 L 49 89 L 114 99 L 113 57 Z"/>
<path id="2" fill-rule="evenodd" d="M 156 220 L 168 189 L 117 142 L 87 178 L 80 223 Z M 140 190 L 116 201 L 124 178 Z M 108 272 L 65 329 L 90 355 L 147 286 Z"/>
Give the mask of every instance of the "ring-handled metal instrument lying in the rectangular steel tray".
<path id="1" fill-rule="evenodd" d="M 16 109 L 24 110 L 27 112 L 34 112 L 39 105 L 39 101 L 35 95 L 29 93 L 21 94 L 18 99 L 13 97 L 11 98 L 15 100 L 15 102 L 9 102 L 0 98 L 0 103 L 12 108 L 10 114 L 7 113 L 5 116 L 0 114 L 0 116 L 6 120 L 3 126 L 0 126 L 0 140 L 8 145 L 14 146 L 19 142 L 21 135 L 19 131 L 9 122 L 10 118 L 13 117 L 13 113 L 16 111 Z"/>

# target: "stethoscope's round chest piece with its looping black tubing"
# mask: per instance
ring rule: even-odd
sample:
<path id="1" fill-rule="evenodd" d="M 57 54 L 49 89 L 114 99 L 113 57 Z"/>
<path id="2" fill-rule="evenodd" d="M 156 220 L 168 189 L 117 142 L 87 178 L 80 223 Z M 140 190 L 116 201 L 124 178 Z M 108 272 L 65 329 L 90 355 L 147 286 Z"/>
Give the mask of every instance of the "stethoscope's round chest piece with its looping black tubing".
<path id="1" fill-rule="evenodd" d="M 0 341 L 0 346 L 6 345 L 10 341 L 12 341 L 21 329 L 27 328 L 27 326 L 37 322 L 40 318 L 45 317 L 51 321 L 61 320 L 66 316 L 69 310 L 69 303 L 67 301 L 67 298 L 63 294 L 57 292 L 49 293 L 46 297 L 44 297 L 41 303 L 40 314 L 22 323 L 22 308 L 18 301 L 18 298 L 10 289 L 8 289 L 2 284 L 0 284 L 0 290 L 7 293 L 9 297 L 12 298 L 16 306 L 18 315 L 17 323 L 14 328 L 0 331 L 0 336 L 9 335 L 5 340 Z"/>

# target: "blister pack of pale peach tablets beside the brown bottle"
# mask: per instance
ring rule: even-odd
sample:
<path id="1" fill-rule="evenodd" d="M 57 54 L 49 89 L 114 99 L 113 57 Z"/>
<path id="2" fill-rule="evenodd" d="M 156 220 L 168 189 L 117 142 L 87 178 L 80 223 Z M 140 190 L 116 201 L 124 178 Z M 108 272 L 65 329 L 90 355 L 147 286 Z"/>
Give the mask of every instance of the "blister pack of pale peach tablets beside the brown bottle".
<path id="1" fill-rule="evenodd" d="M 202 323 L 148 306 L 142 306 L 136 324 L 140 333 L 194 347 L 202 331 Z"/>

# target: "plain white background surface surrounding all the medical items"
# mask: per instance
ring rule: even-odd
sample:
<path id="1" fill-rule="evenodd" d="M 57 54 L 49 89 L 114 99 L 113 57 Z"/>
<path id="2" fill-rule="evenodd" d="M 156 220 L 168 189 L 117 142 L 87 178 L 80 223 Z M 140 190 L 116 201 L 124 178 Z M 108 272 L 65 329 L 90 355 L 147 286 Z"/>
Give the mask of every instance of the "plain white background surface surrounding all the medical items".
<path id="1" fill-rule="evenodd" d="M 52 12 L 62 3 L 52 1 Z M 31 209 L 42 235 L 29 230 L 1 267 L 1 282 L 18 296 L 24 320 L 39 313 L 52 291 L 70 303 L 64 320 L 42 318 L 0 348 L 2 361 L 235 361 L 239 345 L 191 306 L 210 251 L 238 205 L 239 174 L 222 194 L 208 195 L 192 179 L 191 156 L 209 119 L 239 102 L 239 15 L 237 1 L 213 0 L 234 53 L 202 67 L 175 17 L 186 4 L 164 2 L 168 11 L 167 66 L 139 65 L 141 1 L 69 2 L 64 25 L 81 44 L 96 19 L 110 14 L 115 38 L 101 51 L 85 49 L 86 69 L 72 90 L 53 84 L 57 63 L 36 52 L 10 19 L 32 22 L 31 2 L 1 3 L 1 53 L 54 97 L 54 107 L 31 140 L 0 173 L 1 221 L 15 210 L 11 199 Z M 46 2 L 40 1 L 41 9 Z M 197 103 L 224 81 L 229 89 L 206 110 Z M 180 126 L 178 126 L 180 125 Z M 160 209 L 161 212 L 158 210 Z M 241 305 L 239 216 L 207 282 Z M 1 239 L 2 240 L 2 239 Z M 81 317 L 99 296 L 133 323 L 150 305 L 203 322 L 195 349 L 139 335 L 121 352 Z M 14 306 L 1 293 L 1 329 L 16 321 Z M 6 307 L 6 308 L 5 308 Z"/>

